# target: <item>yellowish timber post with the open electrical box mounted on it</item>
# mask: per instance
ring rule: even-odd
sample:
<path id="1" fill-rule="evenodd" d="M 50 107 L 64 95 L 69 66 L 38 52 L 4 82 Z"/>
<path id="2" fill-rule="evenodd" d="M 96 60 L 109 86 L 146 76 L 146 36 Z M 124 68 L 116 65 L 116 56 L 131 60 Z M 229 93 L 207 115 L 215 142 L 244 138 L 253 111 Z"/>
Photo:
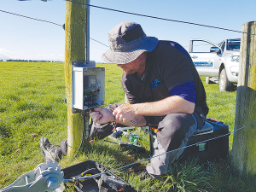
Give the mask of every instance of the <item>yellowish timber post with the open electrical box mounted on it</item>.
<path id="1" fill-rule="evenodd" d="M 86 0 L 76 2 L 87 3 Z M 68 155 L 76 153 L 83 138 L 83 117 L 81 113 L 72 113 L 72 61 L 85 61 L 86 6 L 79 3 L 66 3 L 65 83 Z"/>

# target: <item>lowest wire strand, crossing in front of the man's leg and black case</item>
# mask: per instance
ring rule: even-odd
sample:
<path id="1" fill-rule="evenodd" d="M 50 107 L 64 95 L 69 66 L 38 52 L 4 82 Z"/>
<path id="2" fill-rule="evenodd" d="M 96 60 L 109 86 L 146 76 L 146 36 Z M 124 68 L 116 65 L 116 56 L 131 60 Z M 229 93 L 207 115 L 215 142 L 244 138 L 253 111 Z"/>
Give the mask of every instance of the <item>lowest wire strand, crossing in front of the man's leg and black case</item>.
<path id="1" fill-rule="evenodd" d="M 256 121 L 254 121 L 254 122 L 253 122 L 252 124 L 250 124 L 250 125 L 253 125 L 253 124 L 255 124 L 255 123 L 256 123 Z M 236 131 L 240 131 L 241 129 L 244 129 L 244 128 L 250 126 L 250 125 L 245 125 L 245 126 L 239 128 L 239 129 L 236 129 Z M 226 134 L 224 134 L 224 135 L 221 135 L 221 136 L 218 136 L 218 137 L 213 137 L 213 138 L 210 138 L 210 139 L 201 141 L 201 142 L 199 142 L 199 143 L 194 143 L 194 144 L 185 146 L 185 147 L 183 147 L 183 148 L 177 148 L 177 149 L 174 149 L 174 150 L 172 150 L 172 151 L 168 151 L 168 152 L 163 153 L 163 154 L 169 154 L 169 153 L 175 152 L 175 151 L 180 150 L 180 149 L 190 148 L 190 147 L 193 147 L 193 146 L 198 145 L 198 144 L 201 144 L 201 143 L 207 143 L 207 142 L 209 142 L 209 141 L 212 141 L 212 140 L 215 140 L 215 139 L 218 139 L 218 138 L 221 138 L 221 137 L 230 136 L 230 134 L 235 133 L 236 131 L 231 131 L 231 132 L 226 133 Z M 74 182 L 74 181 L 78 181 L 78 180 L 80 180 L 80 179 L 85 180 L 85 179 L 89 179 L 89 178 L 99 177 L 99 176 L 101 176 L 102 174 L 107 174 L 107 173 L 110 173 L 110 172 L 116 172 L 116 171 L 119 171 L 120 169 L 125 169 L 125 168 L 127 168 L 127 167 L 129 167 L 129 166 L 134 166 L 134 165 L 136 165 L 136 164 L 138 164 L 138 163 L 141 163 L 141 162 L 143 162 L 143 161 L 145 161 L 145 160 L 151 160 L 151 159 L 153 159 L 153 158 L 155 158 L 155 157 L 159 157 L 160 155 L 163 155 L 163 154 L 158 154 L 158 155 L 155 155 L 155 156 L 153 156 L 153 157 L 149 157 L 148 159 L 144 159 L 144 160 L 139 160 L 139 161 L 137 161 L 137 162 L 135 162 L 135 163 L 131 163 L 131 164 L 126 165 L 126 166 L 121 166 L 121 167 L 119 167 L 119 168 L 117 168 L 117 169 L 113 169 L 113 170 L 111 170 L 111 171 L 109 171 L 109 172 L 102 172 L 102 173 L 98 173 L 98 174 L 96 174 L 96 175 L 92 175 L 92 176 L 88 176 L 88 177 L 79 177 L 79 178 L 74 178 L 74 179 L 64 179 L 63 182 Z"/>

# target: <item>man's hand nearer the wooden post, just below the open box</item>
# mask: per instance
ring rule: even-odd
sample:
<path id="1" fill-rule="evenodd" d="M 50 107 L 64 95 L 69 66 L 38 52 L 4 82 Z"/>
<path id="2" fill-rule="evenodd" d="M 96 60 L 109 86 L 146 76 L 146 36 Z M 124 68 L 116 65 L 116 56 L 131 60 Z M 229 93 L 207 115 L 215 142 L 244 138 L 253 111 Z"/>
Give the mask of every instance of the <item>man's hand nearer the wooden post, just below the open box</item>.
<path id="1" fill-rule="evenodd" d="M 94 108 L 94 111 L 90 111 L 90 117 L 97 124 L 106 124 L 113 121 L 113 113 L 107 108 Z"/>

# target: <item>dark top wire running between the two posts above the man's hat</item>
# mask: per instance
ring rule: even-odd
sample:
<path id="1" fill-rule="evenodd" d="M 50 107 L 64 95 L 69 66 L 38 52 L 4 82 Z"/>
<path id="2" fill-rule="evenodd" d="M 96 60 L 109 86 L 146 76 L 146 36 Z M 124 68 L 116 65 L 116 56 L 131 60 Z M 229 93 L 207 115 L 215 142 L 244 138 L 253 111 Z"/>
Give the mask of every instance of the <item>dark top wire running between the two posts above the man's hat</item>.
<path id="1" fill-rule="evenodd" d="M 143 16 L 143 17 L 148 17 L 148 18 L 157 19 L 157 20 L 167 20 L 167 21 L 179 22 L 179 23 L 195 25 L 195 26 L 205 26 L 205 27 L 210 27 L 210 28 L 220 29 L 220 30 L 225 30 L 225 31 L 230 31 L 230 32 L 239 32 L 239 33 L 247 33 L 249 35 L 256 35 L 256 34 L 252 34 L 252 33 L 248 33 L 248 32 L 241 32 L 241 31 L 226 29 L 226 28 L 218 27 L 218 26 L 207 26 L 207 25 L 202 25 L 202 24 L 199 24 L 199 23 L 193 23 L 193 22 L 188 22 L 188 21 L 183 21 L 183 20 L 171 20 L 171 19 L 166 19 L 166 18 L 161 18 L 161 17 L 156 17 L 156 16 L 136 14 L 136 13 L 131 13 L 131 12 L 128 12 L 128 11 L 122 11 L 122 10 L 117 10 L 117 9 L 109 9 L 109 8 L 104 8 L 104 7 L 100 7 L 100 6 L 96 6 L 96 5 L 92 5 L 92 4 L 80 3 L 80 2 L 76 2 L 76 1 L 72 1 L 72 0 L 66 0 L 66 1 L 71 2 L 71 3 L 83 4 L 83 5 L 86 5 L 86 6 L 93 7 L 93 8 L 111 10 L 111 11 L 115 11 L 115 12 L 119 12 L 119 13 L 123 13 L 123 14 L 137 15 L 137 16 Z"/>

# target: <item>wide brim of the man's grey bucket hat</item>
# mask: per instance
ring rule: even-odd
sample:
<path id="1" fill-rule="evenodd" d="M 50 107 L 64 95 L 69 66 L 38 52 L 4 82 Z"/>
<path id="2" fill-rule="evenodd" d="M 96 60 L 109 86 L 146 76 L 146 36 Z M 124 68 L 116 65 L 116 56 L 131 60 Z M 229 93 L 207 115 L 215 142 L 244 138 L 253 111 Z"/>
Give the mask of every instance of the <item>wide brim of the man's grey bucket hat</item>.
<path id="1" fill-rule="evenodd" d="M 144 44 L 137 47 L 136 49 L 131 49 L 129 51 L 113 51 L 108 49 L 104 54 L 102 54 L 102 61 L 113 64 L 126 64 L 137 59 L 139 55 L 146 51 L 153 51 L 159 43 L 158 38 L 146 37 L 144 39 Z"/>

